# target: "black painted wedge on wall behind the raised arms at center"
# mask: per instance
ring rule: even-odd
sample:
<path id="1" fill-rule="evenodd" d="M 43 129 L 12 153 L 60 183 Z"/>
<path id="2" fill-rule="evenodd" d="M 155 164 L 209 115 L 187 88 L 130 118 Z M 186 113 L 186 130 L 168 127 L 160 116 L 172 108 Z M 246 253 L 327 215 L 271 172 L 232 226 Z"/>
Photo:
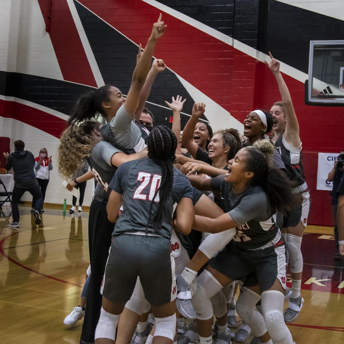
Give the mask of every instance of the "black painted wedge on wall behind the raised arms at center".
<path id="1" fill-rule="evenodd" d="M 77 1 L 74 3 L 104 82 L 118 87 L 123 94 L 127 94 L 136 66 L 138 47 L 82 4 Z M 171 103 L 172 96 L 177 95 L 187 98 L 183 112 L 191 115 L 194 104 L 192 97 L 176 75 L 166 68 L 157 75 L 147 100 L 166 107 L 165 100 Z M 153 112 L 157 123 L 165 123 L 165 118 L 172 116 L 172 111 L 159 106 L 147 104 L 147 107 Z M 181 115 L 182 128 L 188 119 L 188 116 Z"/>

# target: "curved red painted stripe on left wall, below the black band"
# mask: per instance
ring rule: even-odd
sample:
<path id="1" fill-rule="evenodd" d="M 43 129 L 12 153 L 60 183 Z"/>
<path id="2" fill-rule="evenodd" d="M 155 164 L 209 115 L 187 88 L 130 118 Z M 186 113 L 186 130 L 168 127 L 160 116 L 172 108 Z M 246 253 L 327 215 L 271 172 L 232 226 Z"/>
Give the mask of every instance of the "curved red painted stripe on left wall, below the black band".
<path id="1" fill-rule="evenodd" d="M 31 106 L 0 99 L 0 116 L 13 118 L 60 138 L 67 122 Z"/>

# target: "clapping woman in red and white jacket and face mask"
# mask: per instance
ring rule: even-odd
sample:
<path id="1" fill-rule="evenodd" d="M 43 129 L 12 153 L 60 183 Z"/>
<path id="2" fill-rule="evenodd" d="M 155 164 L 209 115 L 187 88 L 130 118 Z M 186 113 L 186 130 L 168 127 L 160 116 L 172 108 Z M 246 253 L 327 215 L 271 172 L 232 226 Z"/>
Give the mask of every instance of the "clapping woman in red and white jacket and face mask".
<path id="1" fill-rule="evenodd" d="M 38 182 L 38 185 L 41 188 L 42 196 L 43 196 L 43 204 L 44 204 L 44 198 L 45 198 L 45 191 L 49 183 L 50 179 L 50 171 L 53 169 L 53 164 L 51 161 L 51 156 L 48 158 L 48 151 L 46 148 L 41 148 L 40 153 L 38 154 L 38 157 L 35 158 L 35 166 L 34 171 L 36 174 L 36 179 Z M 31 213 L 35 211 L 34 208 L 34 199 L 32 200 L 32 208 Z M 44 212 L 44 209 L 42 208 L 42 212 Z"/>

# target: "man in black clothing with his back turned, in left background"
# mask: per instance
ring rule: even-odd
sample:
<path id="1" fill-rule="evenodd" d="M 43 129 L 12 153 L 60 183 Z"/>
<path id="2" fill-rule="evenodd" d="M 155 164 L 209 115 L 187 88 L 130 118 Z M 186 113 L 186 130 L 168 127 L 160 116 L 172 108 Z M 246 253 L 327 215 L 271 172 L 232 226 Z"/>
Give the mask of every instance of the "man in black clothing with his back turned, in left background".
<path id="1" fill-rule="evenodd" d="M 36 200 L 33 215 L 36 218 L 36 225 L 41 223 L 40 213 L 43 206 L 43 197 L 33 170 L 35 158 L 31 152 L 25 151 L 24 147 L 25 143 L 17 140 L 14 141 L 14 153 L 3 153 L 7 159 L 5 165 L 6 170 L 8 171 L 13 168 L 14 172 L 14 187 L 11 202 L 13 223 L 9 225 L 10 227 L 19 227 L 18 205 L 25 191 L 29 191 L 33 199 Z"/>

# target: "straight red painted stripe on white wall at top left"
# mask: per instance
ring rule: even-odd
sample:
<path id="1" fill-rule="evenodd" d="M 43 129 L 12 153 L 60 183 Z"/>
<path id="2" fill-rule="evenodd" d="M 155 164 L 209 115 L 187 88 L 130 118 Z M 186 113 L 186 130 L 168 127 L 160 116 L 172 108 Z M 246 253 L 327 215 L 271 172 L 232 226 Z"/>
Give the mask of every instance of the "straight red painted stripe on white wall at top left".
<path id="1" fill-rule="evenodd" d="M 50 1 L 50 39 L 64 80 L 97 87 L 66 0 Z M 47 24 L 49 0 L 38 0 Z"/>

